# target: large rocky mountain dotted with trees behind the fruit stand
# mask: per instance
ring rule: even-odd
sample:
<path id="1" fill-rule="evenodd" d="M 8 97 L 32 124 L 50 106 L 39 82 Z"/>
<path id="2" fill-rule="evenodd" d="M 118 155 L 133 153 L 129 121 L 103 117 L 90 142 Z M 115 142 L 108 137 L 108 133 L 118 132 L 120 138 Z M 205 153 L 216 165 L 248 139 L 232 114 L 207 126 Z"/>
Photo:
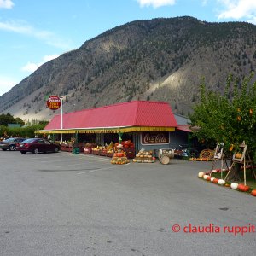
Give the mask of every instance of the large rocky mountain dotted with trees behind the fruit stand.
<path id="1" fill-rule="evenodd" d="M 256 26 L 209 23 L 192 17 L 137 20 L 86 41 L 45 63 L 0 96 L 0 113 L 21 119 L 51 119 L 49 95 L 63 97 L 64 113 L 127 102 L 169 102 L 188 114 L 201 79 L 224 90 L 226 79 L 256 67 Z"/>

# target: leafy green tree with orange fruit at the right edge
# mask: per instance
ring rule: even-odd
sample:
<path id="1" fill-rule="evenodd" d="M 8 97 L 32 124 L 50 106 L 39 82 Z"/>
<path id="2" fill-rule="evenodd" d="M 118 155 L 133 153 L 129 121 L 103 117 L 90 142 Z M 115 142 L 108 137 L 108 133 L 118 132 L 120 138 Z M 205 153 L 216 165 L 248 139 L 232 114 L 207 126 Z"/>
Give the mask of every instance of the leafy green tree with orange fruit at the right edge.
<path id="1" fill-rule="evenodd" d="M 253 75 L 243 79 L 241 89 L 238 79 L 230 76 L 224 95 L 207 91 L 203 80 L 201 102 L 195 105 L 189 118 L 192 125 L 200 127 L 195 131 L 199 139 L 207 143 L 224 143 L 226 154 L 234 154 L 245 141 L 251 158 L 256 161 L 256 82 L 252 82 Z M 233 91 L 232 98 L 230 91 Z"/>

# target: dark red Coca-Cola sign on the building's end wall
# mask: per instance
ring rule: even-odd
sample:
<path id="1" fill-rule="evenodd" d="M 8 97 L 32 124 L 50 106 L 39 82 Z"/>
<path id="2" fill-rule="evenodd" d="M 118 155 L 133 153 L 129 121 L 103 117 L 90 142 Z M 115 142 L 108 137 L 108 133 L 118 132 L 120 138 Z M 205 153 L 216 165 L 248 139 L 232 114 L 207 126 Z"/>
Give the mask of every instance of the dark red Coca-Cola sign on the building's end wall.
<path id="1" fill-rule="evenodd" d="M 169 132 L 143 132 L 142 133 L 142 144 L 169 144 L 170 137 Z"/>

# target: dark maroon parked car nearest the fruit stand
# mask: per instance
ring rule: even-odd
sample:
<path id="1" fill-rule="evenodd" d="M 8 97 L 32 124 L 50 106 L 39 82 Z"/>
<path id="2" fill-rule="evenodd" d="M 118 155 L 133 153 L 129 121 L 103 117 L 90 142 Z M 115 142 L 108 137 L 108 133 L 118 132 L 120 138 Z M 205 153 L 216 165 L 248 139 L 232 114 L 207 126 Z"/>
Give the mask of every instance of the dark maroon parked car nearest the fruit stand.
<path id="1" fill-rule="evenodd" d="M 29 138 L 20 143 L 17 150 L 20 150 L 21 154 L 26 154 L 26 152 L 32 152 L 33 154 L 38 154 L 39 152 L 58 152 L 60 145 L 51 143 L 44 138 Z"/>

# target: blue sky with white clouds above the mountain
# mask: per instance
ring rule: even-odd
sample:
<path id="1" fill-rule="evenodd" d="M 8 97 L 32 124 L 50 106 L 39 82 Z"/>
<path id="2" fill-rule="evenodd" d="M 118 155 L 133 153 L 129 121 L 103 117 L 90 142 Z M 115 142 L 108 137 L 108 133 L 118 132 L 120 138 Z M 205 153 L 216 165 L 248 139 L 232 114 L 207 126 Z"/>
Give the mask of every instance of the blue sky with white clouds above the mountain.
<path id="1" fill-rule="evenodd" d="M 183 15 L 256 24 L 256 0 L 0 0 L 0 96 L 108 29 Z"/>

